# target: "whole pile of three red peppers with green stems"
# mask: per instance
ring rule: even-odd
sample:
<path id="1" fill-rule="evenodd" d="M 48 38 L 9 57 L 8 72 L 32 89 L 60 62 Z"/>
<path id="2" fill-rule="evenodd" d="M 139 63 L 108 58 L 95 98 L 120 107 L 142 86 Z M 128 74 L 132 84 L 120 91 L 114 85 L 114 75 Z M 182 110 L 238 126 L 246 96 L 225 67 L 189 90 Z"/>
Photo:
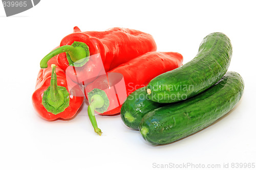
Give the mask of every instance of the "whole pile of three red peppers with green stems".
<path id="1" fill-rule="evenodd" d="M 32 103 L 46 120 L 71 119 L 89 101 L 88 115 L 117 115 L 126 97 L 156 76 L 182 65 L 174 52 L 156 52 L 150 34 L 123 28 L 74 32 L 40 62 Z"/>

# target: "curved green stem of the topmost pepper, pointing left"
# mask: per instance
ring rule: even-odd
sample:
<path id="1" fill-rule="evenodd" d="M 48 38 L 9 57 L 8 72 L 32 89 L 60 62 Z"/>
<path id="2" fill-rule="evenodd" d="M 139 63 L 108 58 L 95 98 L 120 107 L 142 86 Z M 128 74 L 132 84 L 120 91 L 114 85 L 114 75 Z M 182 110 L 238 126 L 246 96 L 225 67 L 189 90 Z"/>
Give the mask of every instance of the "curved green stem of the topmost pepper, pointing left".
<path id="1" fill-rule="evenodd" d="M 83 42 L 75 42 L 78 44 L 85 44 Z M 85 44 L 86 45 L 86 44 Z M 86 57 L 88 57 L 87 51 L 81 47 L 81 46 L 72 46 L 72 45 L 63 45 L 60 46 L 58 48 L 56 48 L 55 50 L 53 50 L 52 52 L 50 52 L 48 55 L 46 55 L 40 62 L 40 67 L 41 68 L 47 68 L 47 62 L 53 58 L 54 56 L 61 54 L 61 53 L 69 53 L 70 58 L 72 60 L 72 62 L 77 62 L 77 63 L 81 63 Z"/>

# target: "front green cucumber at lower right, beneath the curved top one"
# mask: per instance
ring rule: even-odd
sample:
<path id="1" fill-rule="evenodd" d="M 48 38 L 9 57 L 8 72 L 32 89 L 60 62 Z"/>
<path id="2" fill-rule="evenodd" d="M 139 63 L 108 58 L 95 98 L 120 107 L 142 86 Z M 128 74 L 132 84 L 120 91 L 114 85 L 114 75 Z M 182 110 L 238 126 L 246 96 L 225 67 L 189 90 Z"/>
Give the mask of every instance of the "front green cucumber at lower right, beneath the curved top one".
<path id="1" fill-rule="evenodd" d="M 244 82 L 237 72 L 227 72 L 218 84 L 186 101 L 148 112 L 139 130 L 154 144 L 167 144 L 196 133 L 228 113 L 241 99 Z"/>

